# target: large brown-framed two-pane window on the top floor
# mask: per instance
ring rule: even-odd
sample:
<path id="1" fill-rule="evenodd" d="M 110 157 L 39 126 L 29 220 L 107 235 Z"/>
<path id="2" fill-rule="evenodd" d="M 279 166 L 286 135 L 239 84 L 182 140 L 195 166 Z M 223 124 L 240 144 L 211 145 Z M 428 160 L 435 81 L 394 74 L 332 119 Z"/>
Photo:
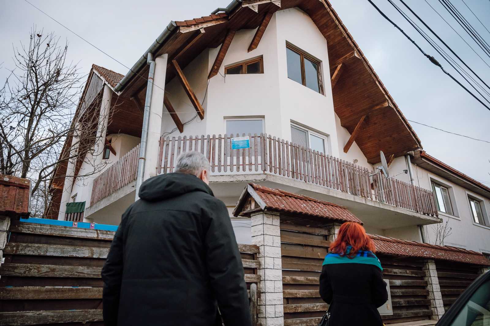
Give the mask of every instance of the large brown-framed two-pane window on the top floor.
<path id="1" fill-rule="evenodd" d="M 320 63 L 305 52 L 286 45 L 288 78 L 322 93 Z"/>

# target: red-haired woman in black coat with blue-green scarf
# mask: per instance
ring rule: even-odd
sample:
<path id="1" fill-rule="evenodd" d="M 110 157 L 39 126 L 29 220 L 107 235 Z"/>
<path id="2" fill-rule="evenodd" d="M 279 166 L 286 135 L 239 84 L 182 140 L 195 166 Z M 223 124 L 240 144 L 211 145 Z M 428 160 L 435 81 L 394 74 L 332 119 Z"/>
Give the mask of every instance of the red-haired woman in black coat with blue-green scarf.
<path id="1" fill-rule="evenodd" d="M 320 296 L 330 304 L 329 325 L 382 326 L 377 307 L 388 300 L 383 268 L 364 227 L 346 222 L 325 256 Z"/>

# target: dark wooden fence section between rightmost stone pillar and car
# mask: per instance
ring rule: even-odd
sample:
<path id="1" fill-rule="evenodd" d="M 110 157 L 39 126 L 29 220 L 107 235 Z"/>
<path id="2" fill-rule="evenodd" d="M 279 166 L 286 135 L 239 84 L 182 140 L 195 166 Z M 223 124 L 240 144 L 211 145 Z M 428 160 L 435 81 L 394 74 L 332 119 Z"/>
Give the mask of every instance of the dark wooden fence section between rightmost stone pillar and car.
<path id="1" fill-rule="evenodd" d="M 444 310 L 449 309 L 479 275 L 479 267 L 476 265 L 436 261 L 436 268 Z"/>

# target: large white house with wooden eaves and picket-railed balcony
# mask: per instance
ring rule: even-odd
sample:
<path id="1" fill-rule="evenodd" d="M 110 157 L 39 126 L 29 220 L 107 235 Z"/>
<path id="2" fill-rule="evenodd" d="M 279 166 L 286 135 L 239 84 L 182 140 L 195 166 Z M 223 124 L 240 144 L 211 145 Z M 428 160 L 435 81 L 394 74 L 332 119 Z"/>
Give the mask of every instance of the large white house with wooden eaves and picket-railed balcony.
<path id="1" fill-rule="evenodd" d="M 73 220 L 67 203 L 85 202 L 83 221 L 119 224 L 136 198 L 147 108 L 142 179 L 200 150 L 230 216 L 254 182 L 343 205 L 373 234 L 439 244 L 449 221 L 445 245 L 490 253 L 490 189 L 422 150 L 327 0 L 234 0 L 216 12 L 171 22 L 126 75 L 93 66 L 74 123 L 98 117 L 106 141 L 94 159 L 107 164 L 88 178 L 76 177 L 91 168 L 83 160 L 60 164 L 50 218 Z M 232 150 L 230 136 L 244 134 L 250 148 Z M 377 173 L 380 150 L 390 178 Z M 250 222 L 233 223 L 250 241 Z"/>

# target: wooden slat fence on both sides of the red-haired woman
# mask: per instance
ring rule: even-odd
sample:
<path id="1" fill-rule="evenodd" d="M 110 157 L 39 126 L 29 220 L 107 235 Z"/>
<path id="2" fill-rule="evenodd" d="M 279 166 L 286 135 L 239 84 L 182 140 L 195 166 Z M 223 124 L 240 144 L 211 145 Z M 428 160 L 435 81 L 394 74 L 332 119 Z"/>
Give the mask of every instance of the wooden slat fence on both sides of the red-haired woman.
<path id="1" fill-rule="evenodd" d="M 281 224 L 281 254 L 285 326 L 316 326 L 328 309 L 319 295 L 319 276 L 328 251 L 326 229 Z M 382 316 L 387 325 L 430 319 L 432 311 L 423 263 L 379 255 L 389 279 L 393 315 Z"/>

